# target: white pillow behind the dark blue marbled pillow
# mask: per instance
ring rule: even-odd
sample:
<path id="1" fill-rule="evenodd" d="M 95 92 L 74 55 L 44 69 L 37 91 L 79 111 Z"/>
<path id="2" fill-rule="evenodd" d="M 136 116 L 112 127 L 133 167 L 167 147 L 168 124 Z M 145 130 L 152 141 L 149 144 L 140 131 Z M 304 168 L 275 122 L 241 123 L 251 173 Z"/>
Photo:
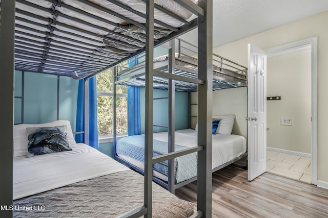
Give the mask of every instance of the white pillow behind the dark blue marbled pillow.
<path id="1" fill-rule="evenodd" d="M 70 145 L 70 148 L 77 147 L 71 124 L 69 120 L 56 120 L 51 123 L 46 124 L 19 124 L 14 126 L 14 157 L 17 156 L 26 156 L 27 144 L 28 144 L 28 135 L 26 128 L 28 127 L 56 127 L 56 126 L 66 126 L 67 127 L 67 139 Z"/>

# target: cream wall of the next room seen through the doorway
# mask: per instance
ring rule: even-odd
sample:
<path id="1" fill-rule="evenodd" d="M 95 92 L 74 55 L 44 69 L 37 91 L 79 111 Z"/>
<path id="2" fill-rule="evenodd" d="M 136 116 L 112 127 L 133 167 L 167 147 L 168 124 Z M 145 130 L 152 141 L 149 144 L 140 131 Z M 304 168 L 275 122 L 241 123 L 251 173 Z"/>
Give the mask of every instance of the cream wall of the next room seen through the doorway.
<path id="1" fill-rule="evenodd" d="M 311 154 L 311 50 L 268 58 L 267 146 Z M 281 125 L 281 118 L 293 126 Z"/>

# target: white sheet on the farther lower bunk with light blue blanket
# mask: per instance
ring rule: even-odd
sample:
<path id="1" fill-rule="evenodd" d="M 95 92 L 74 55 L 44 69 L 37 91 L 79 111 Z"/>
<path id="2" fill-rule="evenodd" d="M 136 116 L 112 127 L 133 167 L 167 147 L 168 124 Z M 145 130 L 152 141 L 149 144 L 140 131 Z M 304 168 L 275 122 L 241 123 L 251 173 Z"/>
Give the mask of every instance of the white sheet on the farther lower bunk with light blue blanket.
<path id="1" fill-rule="evenodd" d="M 154 133 L 154 139 L 168 142 L 168 132 Z M 244 154 L 247 151 L 246 142 L 246 138 L 241 135 L 212 135 L 212 169 Z M 197 131 L 193 129 L 175 131 L 175 144 L 189 148 L 197 146 Z M 123 154 L 118 154 L 118 156 L 132 165 L 144 169 L 144 162 Z M 154 171 L 154 176 L 168 181 L 166 176 L 156 171 Z"/>

